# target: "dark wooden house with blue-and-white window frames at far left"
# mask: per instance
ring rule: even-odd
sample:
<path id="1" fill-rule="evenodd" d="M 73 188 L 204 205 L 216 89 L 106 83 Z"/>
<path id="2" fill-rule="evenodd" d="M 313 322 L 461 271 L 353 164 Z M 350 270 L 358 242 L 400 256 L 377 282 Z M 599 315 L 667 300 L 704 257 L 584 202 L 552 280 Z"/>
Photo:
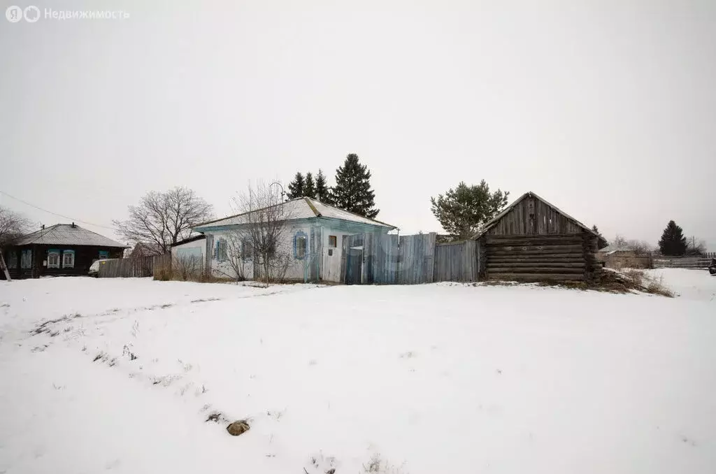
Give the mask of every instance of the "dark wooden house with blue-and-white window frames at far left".
<path id="1" fill-rule="evenodd" d="M 55 224 L 17 238 L 2 249 L 10 278 L 87 275 L 102 258 L 122 258 L 125 246 L 72 224 Z M 2 274 L 2 272 L 0 272 Z M 4 274 L 0 278 L 4 279 Z"/>

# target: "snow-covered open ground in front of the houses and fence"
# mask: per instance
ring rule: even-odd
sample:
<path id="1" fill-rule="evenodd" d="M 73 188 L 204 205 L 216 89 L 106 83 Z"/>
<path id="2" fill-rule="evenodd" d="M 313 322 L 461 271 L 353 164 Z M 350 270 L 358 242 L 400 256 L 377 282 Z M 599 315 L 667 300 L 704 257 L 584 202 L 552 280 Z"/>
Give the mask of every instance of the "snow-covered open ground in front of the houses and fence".
<path id="1" fill-rule="evenodd" d="M 716 278 L 652 274 L 2 281 L 0 473 L 714 473 Z"/>

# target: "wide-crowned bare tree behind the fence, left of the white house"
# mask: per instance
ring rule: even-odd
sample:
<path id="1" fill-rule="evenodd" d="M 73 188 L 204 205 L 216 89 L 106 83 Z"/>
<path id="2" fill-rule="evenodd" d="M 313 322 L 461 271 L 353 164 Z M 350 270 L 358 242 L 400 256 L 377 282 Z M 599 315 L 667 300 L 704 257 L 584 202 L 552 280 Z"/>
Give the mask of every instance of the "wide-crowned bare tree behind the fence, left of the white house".
<path id="1" fill-rule="evenodd" d="M 212 218 L 211 204 L 193 190 L 173 188 L 147 193 L 138 205 L 129 206 L 127 221 L 112 221 L 117 232 L 133 243 L 153 243 L 155 253 L 167 253 L 173 243 L 191 235 L 191 228 Z"/>

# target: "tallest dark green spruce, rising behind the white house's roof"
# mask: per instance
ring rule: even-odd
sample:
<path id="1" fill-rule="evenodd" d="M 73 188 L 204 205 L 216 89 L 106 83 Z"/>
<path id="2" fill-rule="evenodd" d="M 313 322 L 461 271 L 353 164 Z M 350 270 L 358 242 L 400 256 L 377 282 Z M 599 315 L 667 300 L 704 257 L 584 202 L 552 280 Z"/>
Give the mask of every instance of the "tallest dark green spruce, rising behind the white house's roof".
<path id="1" fill-rule="evenodd" d="M 337 208 L 371 219 L 380 212 L 375 208 L 375 193 L 370 188 L 370 171 L 359 163 L 355 153 L 349 154 L 343 166 L 336 170 L 331 200 Z"/>

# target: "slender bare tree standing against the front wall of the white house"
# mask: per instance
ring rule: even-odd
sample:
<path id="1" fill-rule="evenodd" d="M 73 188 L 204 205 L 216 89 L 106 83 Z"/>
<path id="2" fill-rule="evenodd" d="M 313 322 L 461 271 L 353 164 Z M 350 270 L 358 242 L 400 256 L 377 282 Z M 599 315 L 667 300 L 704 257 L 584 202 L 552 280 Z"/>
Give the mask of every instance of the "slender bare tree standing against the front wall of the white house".
<path id="1" fill-rule="evenodd" d="M 236 217 L 238 226 L 227 240 L 227 250 L 233 246 L 234 257 L 241 257 L 238 261 L 243 265 L 245 251 L 250 247 L 256 259 L 254 268 L 261 269 L 267 286 L 272 280 L 283 280 L 291 264 L 291 246 L 286 239 L 286 221 L 291 218 L 291 211 L 283 203 L 279 190 L 263 183 L 249 187 L 233 200 L 233 207 L 241 214 Z"/>

